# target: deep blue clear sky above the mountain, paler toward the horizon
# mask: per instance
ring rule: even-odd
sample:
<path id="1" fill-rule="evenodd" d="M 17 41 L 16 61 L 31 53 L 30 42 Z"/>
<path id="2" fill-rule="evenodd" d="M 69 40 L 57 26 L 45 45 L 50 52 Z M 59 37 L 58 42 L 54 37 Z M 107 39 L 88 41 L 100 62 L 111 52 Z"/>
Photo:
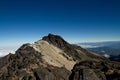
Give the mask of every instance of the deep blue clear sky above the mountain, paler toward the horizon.
<path id="1" fill-rule="evenodd" d="M 120 40 L 120 0 L 0 0 L 0 45 L 48 33 L 72 43 Z"/>

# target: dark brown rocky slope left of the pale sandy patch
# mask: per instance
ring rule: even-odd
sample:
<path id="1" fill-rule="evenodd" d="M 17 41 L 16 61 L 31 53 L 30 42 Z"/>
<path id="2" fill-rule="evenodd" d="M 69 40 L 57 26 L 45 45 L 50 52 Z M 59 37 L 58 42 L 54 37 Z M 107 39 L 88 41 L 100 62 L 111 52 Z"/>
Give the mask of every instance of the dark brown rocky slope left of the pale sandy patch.
<path id="1" fill-rule="evenodd" d="M 0 69 L 0 80 L 67 79 L 70 71 L 45 63 L 43 56 L 31 44 L 24 44 L 16 54 L 9 56 L 6 65 Z"/>

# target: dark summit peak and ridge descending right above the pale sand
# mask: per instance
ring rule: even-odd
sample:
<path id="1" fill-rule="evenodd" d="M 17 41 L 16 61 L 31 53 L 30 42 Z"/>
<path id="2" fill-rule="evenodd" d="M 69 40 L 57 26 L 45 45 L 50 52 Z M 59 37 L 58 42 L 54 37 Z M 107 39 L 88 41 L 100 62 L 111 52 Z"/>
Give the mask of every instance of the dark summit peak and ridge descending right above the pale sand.
<path id="1" fill-rule="evenodd" d="M 79 62 L 86 59 L 97 60 L 98 58 L 101 60 L 105 59 L 104 57 L 96 53 L 89 52 L 86 49 L 81 48 L 80 46 L 69 44 L 58 35 L 49 34 L 48 36 L 43 37 L 43 40 L 63 50 L 67 55 L 73 57 L 74 61 Z"/>

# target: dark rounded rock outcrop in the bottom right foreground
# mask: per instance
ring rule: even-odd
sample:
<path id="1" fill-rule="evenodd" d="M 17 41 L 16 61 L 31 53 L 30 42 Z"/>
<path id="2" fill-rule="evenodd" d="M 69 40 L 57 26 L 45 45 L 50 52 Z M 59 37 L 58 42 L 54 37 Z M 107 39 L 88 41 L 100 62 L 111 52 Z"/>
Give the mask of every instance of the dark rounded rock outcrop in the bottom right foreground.
<path id="1" fill-rule="evenodd" d="M 69 80 L 120 80 L 120 63 L 82 61 L 77 63 Z"/>

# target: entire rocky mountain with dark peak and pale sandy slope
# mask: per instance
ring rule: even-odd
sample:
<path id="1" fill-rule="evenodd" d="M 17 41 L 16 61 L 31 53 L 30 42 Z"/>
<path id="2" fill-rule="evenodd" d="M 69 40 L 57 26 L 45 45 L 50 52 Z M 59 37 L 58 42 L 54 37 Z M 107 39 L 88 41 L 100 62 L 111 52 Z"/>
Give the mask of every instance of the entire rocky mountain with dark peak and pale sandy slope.
<path id="1" fill-rule="evenodd" d="M 120 80 L 120 63 L 48 34 L 1 57 L 0 80 Z"/>

